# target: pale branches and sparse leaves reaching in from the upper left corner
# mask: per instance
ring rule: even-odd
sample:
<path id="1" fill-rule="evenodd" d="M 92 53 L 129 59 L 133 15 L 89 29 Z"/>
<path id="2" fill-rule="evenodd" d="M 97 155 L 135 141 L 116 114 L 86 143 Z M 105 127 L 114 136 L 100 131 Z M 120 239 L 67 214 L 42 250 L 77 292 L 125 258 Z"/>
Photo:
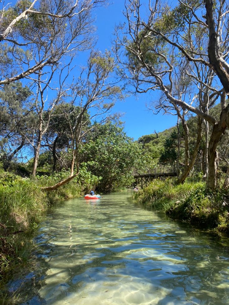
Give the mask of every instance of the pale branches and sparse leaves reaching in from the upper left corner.
<path id="1" fill-rule="evenodd" d="M 2 70 L 0 85 L 31 77 L 63 56 L 90 49 L 94 44 L 91 12 L 105 2 L 20 0 L 13 7 L 2 2 L 0 41 L 5 42 L 11 71 Z"/>

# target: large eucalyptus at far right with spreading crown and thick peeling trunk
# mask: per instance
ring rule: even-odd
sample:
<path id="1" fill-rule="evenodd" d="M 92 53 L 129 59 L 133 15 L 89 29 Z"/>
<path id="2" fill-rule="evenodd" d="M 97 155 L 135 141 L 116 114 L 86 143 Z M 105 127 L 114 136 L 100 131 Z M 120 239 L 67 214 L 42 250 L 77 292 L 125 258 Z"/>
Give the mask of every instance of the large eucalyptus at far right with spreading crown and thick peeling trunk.
<path id="1" fill-rule="evenodd" d="M 208 146 L 207 186 L 214 189 L 217 144 L 229 119 L 226 100 L 229 94 L 228 4 L 226 1 L 216 1 L 213 6 L 210 0 L 179 1 L 177 6 L 171 8 L 156 0 L 149 1 L 148 12 L 142 15 L 140 2 L 125 2 L 127 30 L 123 39 L 119 39 L 120 35 L 117 37 L 117 53 L 121 46 L 124 47 L 124 55 L 127 56 L 125 68 L 138 92 L 159 89 L 169 102 L 197 114 L 213 126 Z M 184 75 L 189 75 L 193 83 L 195 80 L 205 88 L 202 90 L 203 95 L 205 93 L 207 96 L 205 104 L 209 97 L 212 104 L 217 99 L 221 100 L 222 110 L 218 121 L 208 113 L 207 107 L 202 107 L 200 99 L 196 99 L 193 105 L 199 88 L 194 90 L 189 100 L 173 94 L 174 75 L 184 60 L 188 62 Z M 121 61 L 124 62 L 123 59 Z M 208 79 L 198 75 L 197 66 L 200 71 L 207 69 Z"/>

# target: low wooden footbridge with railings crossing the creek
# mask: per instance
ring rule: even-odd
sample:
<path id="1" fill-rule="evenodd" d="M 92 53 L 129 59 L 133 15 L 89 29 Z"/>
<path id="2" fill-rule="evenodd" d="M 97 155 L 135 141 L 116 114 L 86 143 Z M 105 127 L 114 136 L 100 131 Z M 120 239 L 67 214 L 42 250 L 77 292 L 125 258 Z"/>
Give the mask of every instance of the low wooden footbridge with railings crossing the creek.
<path id="1" fill-rule="evenodd" d="M 171 167 L 155 168 L 143 173 L 134 173 L 133 187 L 140 185 L 141 188 L 147 187 L 153 179 L 161 179 L 162 177 L 174 177 L 177 173 Z"/>

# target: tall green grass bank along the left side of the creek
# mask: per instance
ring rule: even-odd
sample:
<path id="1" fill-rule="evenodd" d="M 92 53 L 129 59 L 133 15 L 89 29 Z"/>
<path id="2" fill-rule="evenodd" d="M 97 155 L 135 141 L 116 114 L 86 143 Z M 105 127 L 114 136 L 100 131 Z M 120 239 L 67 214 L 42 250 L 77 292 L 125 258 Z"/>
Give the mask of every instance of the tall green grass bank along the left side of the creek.
<path id="1" fill-rule="evenodd" d="M 76 180 L 54 192 L 41 191 L 42 186 L 53 185 L 62 177 L 36 179 L 2 173 L 0 176 L 0 280 L 16 264 L 26 261 L 31 244 L 31 233 L 47 208 L 63 199 L 80 196 L 82 189 Z"/>

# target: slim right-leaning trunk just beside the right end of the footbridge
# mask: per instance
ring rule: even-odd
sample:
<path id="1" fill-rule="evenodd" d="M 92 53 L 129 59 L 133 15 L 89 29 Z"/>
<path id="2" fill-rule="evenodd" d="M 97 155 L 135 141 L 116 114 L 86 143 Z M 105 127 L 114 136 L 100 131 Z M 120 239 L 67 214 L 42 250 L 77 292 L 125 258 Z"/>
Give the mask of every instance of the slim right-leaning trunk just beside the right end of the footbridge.
<path id="1" fill-rule="evenodd" d="M 188 174 L 190 173 L 191 169 L 193 168 L 193 166 L 195 164 L 196 156 L 198 154 L 199 145 L 200 145 L 200 141 L 201 141 L 201 132 L 202 132 L 202 119 L 200 117 L 198 117 L 197 140 L 196 140 L 196 145 L 193 150 L 192 158 L 190 160 L 190 163 L 187 164 L 187 166 L 185 163 L 185 169 L 184 169 L 183 173 L 180 175 L 180 177 L 177 179 L 177 184 L 183 183 L 185 181 L 185 179 L 187 178 Z M 186 145 L 187 145 L 187 143 L 186 143 Z M 185 145 L 185 149 L 186 149 L 186 145 Z"/>

